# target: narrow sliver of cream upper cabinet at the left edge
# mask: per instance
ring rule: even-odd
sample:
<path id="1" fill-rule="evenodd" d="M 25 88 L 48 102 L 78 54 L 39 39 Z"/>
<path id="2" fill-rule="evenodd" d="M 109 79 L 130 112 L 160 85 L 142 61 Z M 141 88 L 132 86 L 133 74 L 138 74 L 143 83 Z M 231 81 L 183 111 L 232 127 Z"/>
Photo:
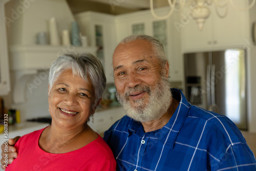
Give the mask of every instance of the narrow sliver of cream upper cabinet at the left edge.
<path id="1" fill-rule="evenodd" d="M 9 61 L 7 49 L 7 34 L 5 25 L 5 3 L 0 1 L 0 96 L 10 92 Z"/>

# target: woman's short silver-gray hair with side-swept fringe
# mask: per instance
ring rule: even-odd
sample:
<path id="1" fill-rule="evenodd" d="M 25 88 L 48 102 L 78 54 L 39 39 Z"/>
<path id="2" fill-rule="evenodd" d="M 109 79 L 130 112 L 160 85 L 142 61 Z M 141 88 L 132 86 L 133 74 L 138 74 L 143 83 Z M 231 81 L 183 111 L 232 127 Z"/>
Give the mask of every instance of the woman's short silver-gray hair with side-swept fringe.
<path id="1" fill-rule="evenodd" d="M 67 69 L 72 69 L 73 75 L 79 76 L 87 82 L 88 78 L 91 79 L 95 90 L 96 105 L 106 87 L 106 77 L 100 60 L 90 53 L 81 55 L 67 53 L 59 56 L 50 68 L 49 92 L 55 79 Z"/>

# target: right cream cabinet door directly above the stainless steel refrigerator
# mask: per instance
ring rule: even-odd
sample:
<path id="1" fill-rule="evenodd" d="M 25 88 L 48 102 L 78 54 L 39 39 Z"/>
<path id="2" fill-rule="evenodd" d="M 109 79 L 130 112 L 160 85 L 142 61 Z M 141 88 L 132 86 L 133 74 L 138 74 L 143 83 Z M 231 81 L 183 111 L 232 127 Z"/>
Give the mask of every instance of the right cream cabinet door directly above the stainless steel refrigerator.
<path id="1" fill-rule="evenodd" d="M 239 8 L 246 7 L 247 1 L 232 0 Z M 228 4 L 228 13 L 225 18 L 217 16 L 216 11 L 214 23 L 214 45 L 215 46 L 239 46 L 244 45 L 245 40 L 249 39 L 249 16 L 248 11 L 240 12 Z M 223 10 L 220 11 L 223 13 Z"/>

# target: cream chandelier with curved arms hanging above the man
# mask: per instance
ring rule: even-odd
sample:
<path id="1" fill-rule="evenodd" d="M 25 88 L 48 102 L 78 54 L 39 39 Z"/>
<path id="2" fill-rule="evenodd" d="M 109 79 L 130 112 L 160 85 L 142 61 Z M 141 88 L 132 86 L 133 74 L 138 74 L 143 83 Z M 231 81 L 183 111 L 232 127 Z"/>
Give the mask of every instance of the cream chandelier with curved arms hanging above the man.
<path id="1" fill-rule="evenodd" d="M 210 16 L 210 9 L 207 6 L 210 6 L 211 4 L 215 5 L 217 15 L 220 18 L 224 18 L 227 16 L 228 4 L 230 4 L 237 11 L 246 11 L 246 10 L 249 10 L 256 2 L 256 0 L 253 0 L 248 7 L 239 8 L 236 5 L 234 5 L 233 0 L 188 0 L 188 1 L 187 0 L 167 0 L 167 1 L 170 6 L 169 13 L 165 16 L 158 16 L 154 11 L 153 0 L 150 0 L 150 10 L 152 15 L 156 19 L 166 19 L 173 14 L 174 10 L 182 10 L 185 6 L 192 5 L 193 7 L 197 8 L 197 12 L 193 12 L 192 16 L 196 20 L 199 30 L 203 30 L 205 19 L 207 19 Z M 177 6 L 179 6 L 179 9 L 176 8 Z M 223 15 L 221 15 L 219 12 L 219 9 L 221 8 L 226 8 L 225 13 Z"/>

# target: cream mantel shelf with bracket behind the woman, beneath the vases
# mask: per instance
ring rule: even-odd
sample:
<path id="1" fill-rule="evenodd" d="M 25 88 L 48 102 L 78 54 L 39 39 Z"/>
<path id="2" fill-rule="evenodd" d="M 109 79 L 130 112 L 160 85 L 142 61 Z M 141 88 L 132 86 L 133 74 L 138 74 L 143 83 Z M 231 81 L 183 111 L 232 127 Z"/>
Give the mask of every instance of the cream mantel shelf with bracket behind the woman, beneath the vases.
<path id="1" fill-rule="evenodd" d="M 25 88 L 29 78 L 38 71 L 49 70 L 58 56 L 68 52 L 87 52 L 96 56 L 97 47 L 14 45 L 10 46 L 9 51 L 14 78 L 13 101 L 17 104 L 25 102 Z"/>

